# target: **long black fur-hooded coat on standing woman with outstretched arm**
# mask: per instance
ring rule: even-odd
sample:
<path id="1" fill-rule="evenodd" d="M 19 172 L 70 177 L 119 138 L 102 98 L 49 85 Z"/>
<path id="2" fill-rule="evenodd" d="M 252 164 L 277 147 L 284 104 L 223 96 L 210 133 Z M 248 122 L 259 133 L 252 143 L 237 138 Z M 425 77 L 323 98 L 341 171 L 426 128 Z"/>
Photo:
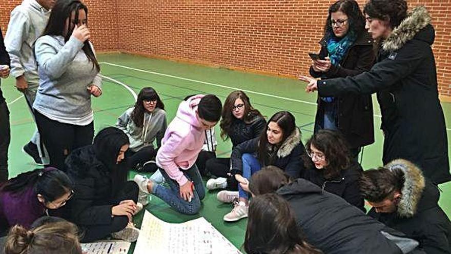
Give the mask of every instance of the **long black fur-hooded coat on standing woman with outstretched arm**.
<path id="1" fill-rule="evenodd" d="M 318 81 L 320 96 L 377 92 L 384 131 L 384 164 L 403 158 L 434 183 L 451 180 L 447 133 L 438 98 L 431 45 L 434 28 L 424 7 L 415 8 L 382 44 L 370 71 Z"/>

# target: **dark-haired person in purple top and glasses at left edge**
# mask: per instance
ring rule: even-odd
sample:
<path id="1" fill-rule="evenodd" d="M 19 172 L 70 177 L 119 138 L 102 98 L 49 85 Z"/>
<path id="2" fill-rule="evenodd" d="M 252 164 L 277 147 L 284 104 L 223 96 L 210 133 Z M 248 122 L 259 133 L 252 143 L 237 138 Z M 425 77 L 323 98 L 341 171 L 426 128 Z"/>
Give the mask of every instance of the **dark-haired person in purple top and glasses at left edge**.
<path id="1" fill-rule="evenodd" d="M 19 174 L 0 186 L 0 233 L 19 224 L 29 228 L 37 218 L 58 209 L 73 195 L 68 176 L 56 168 Z"/>

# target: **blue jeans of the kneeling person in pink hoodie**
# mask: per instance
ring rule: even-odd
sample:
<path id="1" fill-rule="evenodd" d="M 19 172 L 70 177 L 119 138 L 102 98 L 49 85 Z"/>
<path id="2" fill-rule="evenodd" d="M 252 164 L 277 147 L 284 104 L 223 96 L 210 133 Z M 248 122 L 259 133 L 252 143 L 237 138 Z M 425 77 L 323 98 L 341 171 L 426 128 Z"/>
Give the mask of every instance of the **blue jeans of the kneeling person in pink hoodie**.
<path id="1" fill-rule="evenodd" d="M 192 197 L 191 202 L 184 200 L 180 196 L 180 186 L 175 180 L 169 177 L 164 169 L 160 169 L 159 171 L 170 188 L 155 184 L 152 193 L 180 213 L 196 214 L 200 210 L 200 201 L 205 197 L 205 188 L 203 187 L 199 169 L 197 169 L 196 164 L 193 164 L 193 166 L 187 170 L 180 170 L 185 174 L 185 177 L 188 178 L 189 181 L 194 182 L 194 197 Z"/>

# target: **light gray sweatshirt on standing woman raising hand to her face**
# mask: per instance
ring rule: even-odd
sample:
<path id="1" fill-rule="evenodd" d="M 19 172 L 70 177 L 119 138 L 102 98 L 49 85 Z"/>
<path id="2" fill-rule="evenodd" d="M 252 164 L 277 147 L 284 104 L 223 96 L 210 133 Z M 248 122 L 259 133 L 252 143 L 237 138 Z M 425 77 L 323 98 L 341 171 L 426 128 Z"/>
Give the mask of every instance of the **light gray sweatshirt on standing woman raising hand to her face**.
<path id="1" fill-rule="evenodd" d="M 63 36 L 46 35 L 36 41 L 40 80 L 33 108 L 51 120 L 73 125 L 93 121 L 88 87 L 101 88 L 101 78 L 83 45 L 74 36 L 66 44 Z"/>

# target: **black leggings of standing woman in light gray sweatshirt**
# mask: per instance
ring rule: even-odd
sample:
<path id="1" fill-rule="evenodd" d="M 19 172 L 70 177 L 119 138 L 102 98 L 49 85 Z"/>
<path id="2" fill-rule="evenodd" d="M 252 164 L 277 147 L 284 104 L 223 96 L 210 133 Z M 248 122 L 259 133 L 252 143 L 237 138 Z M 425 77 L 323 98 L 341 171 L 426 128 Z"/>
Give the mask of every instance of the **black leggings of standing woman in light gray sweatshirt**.
<path id="1" fill-rule="evenodd" d="M 94 122 L 80 126 L 51 120 L 34 111 L 37 129 L 49 153 L 50 166 L 65 170 L 64 161 L 73 150 L 92 144 Z"/>

